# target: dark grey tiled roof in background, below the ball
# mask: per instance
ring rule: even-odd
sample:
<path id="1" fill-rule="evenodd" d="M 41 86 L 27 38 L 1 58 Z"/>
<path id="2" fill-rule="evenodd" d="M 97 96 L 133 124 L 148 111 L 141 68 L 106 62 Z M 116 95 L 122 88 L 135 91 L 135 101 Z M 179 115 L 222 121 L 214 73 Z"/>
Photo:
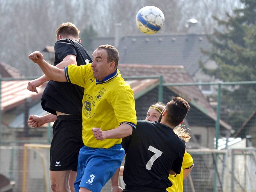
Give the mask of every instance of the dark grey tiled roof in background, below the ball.
<path id="1" fill-rule="evenodd" d="M 114 38 L 95 38 L 92 47 L 112 44 Z M 199 60 L 206 62 L 208 57 L 201 52 L 210 50 L 211 44 L 206 35 L 148 35 L 125 36 L 119 42 L 119 63 L 184 66 L 190 75 L 198 69 Z"/>

